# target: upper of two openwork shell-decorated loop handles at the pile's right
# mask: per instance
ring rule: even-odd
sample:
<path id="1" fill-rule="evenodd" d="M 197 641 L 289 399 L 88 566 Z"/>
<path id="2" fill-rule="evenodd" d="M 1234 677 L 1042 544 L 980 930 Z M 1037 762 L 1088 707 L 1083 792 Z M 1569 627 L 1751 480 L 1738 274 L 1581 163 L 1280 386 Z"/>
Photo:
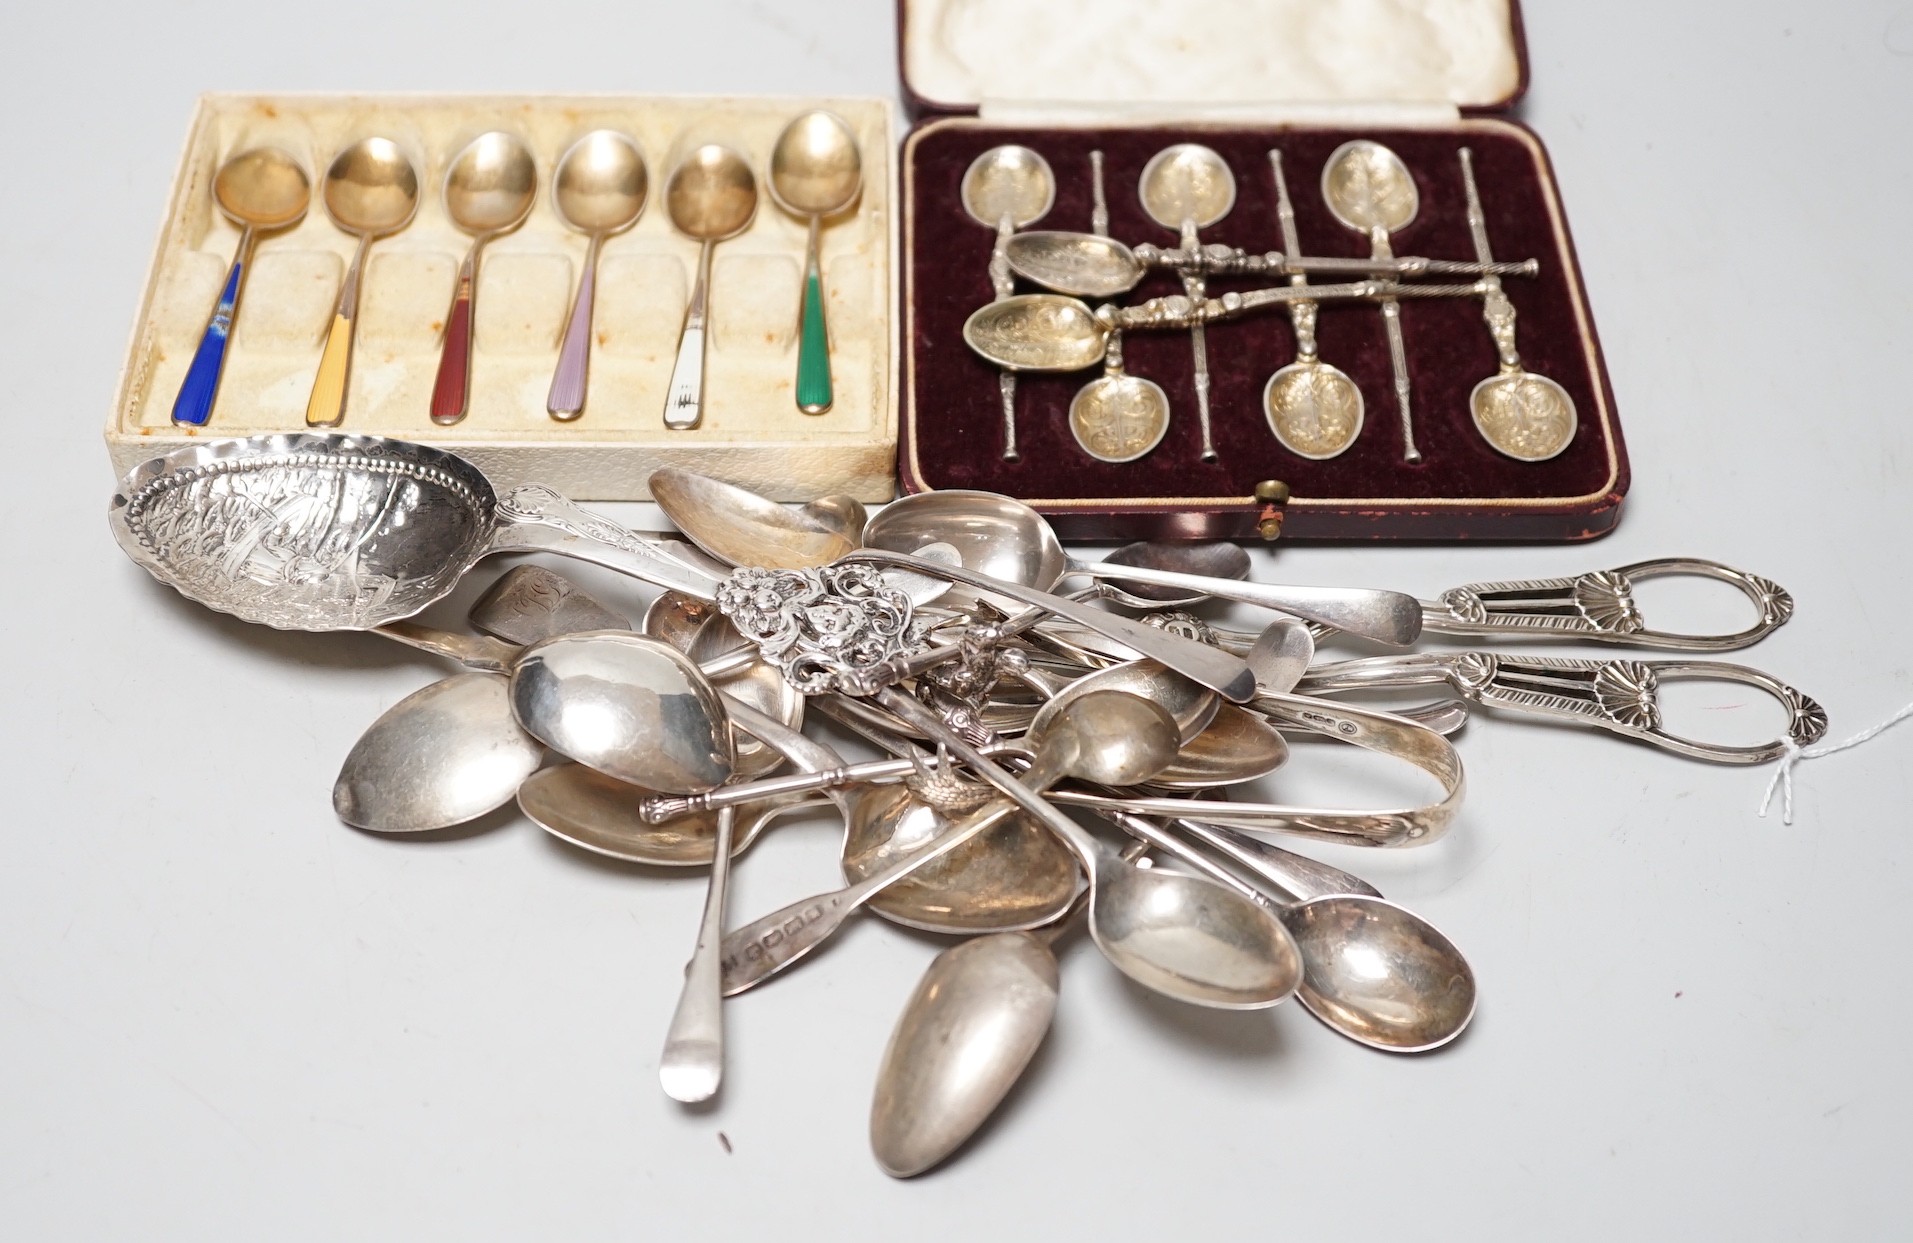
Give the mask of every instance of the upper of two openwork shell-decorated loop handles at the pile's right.
<path id="1" fill-rule="evenodd" d="M 1651 629 L 1634 600 L 1634 583 L 1670 576 L 1710 578 L 1739 587 L 1758 610 L 1756 622 L 1731 635 Z M 1731 652 L 1779 629 L 1792 616 L 1792 597 L 1779 583 L 1716 560 L 1664 556 L 1574 578 L 1467 583 L 1444 591 L 1439 600 L 1425 600 L 1423 612 L 1425 629 L 1442 635 L 1548 635 L 1676 652 Z"/>

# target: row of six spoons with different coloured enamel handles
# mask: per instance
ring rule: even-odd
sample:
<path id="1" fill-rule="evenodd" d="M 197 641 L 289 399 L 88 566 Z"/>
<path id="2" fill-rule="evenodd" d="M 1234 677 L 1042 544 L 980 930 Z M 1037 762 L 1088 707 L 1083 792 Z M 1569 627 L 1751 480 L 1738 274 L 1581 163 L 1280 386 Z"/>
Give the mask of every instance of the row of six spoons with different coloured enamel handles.
<path id="1" fill-rule="evenodd" d="M 765 182 L 777 205 L 807 224 L 796 403 L 807 415 L 821 415 L 832 405 L 821 229 L 825 218 L 849 210 L 863 189 L 863 157 L 849 124 L 821 109 L 796 117 L 771 147 Z M 587 239 L 545 398 L 545 411 L 559 423 L 576 421 L 585 409 L 599 252 L 606 239 L 637 224 L 649 189 L 650 174 L 637 142 L 616 130 L 583 134 L 553 168 L 551 207 L 570 229 Z M 430 398 L 432 423 L 451 426 L 471 413 L 480 251 L 530 216 L 538 199 L 538 164 L 522 138 L 492 130 L 451 159 L 442 193 L 446 216 L 473 239 L 453 283 Z M 180 426 L 205 426 L 210 421 L 256 233 L 297 224 L 306 214 L 310 182 L 295 157 L 275 147 L 258 147 L 233 155 L 220 166 L 212 178 L 212 197 L 241 228 L 241 241 L 174 400 L 172 421 Z M 419 170 L 398 142 L 365 138 L 333 159 L 321 180 L 319 199 L 333 224 L 358 237 L 306 403 L 306 426 L 327 428 L 341 426 L 346 415 L 365 252 L 375 239 L 404 229 L 417 214 Z M 704 143 L 671 168 L 664 207 L 671 226 L 700 243 L 662 415 L 666 426 L 685 430 L 704 419 L 712 249 L 750 228 L 758 214 L 758 178 L 735 149 Z"/>

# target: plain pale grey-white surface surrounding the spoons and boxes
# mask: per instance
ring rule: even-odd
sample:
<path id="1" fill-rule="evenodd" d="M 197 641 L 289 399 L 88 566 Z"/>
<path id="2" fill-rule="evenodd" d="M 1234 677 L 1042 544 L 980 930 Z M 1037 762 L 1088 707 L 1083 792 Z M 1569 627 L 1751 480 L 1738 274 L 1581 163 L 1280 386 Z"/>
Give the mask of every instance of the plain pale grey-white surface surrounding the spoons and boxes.
<path id="1" fill-rule="evenodd" d="M 1913 727 L 1802 769 L 1787 828 L 1752 815 L 1764 773 L 1473 723 L 1450 840 L 1335 855 L 1475 962 L 1481 1015 L 1439 1056 L 1360 1050 L 1293 1004 L 1155 1002 L 1079 941 L 1027 1090 L 897 1184 L 869 1157 L 870 1077 L 937 947 L 865 922 L 729 1008 L 721 1103 L 662 1100 L 702 883 L 505 815 L 442 841 L 339 826 L 339 759 L 442 667 L 157 587 L 107 535 L 99 426 L 195 92 L 886 94 L 890 0 L 13 6 L 6 27 L 8 1237 L 1905 1228 Z M 1572 549 L 1289 547 L 1280 574 L 1429 593 L 1743 564 L 1800 604 L 1743 660 L 1846 736 L 1913 698 L 1913 6 L 1534 0 L 1527 34 L 1626 520 Z M 773 836 L 733 914 L 830 876 L 826 826 Z"/>

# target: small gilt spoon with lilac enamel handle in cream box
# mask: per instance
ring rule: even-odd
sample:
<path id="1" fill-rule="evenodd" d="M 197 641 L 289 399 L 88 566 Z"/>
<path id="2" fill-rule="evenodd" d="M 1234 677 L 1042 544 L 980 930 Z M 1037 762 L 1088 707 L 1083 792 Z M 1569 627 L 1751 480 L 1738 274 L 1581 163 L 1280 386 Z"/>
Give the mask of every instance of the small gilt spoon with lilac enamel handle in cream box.
<path id="1" fill-rule="evenodd" d="M 597 260 L 605 239 L 622 233 L 645 212 L 650 172 L 637 143 L 616 130 L 591 130 L 574 142 L 551 174 L 551 207 L 559 220 L 585 233 L 585 262 L 572 314 L 564 319 L 559 367 L 545 394 L 545 413 L 570 423 L 585 411 L 591 375 L 591 310 L 597 304 Z"/>

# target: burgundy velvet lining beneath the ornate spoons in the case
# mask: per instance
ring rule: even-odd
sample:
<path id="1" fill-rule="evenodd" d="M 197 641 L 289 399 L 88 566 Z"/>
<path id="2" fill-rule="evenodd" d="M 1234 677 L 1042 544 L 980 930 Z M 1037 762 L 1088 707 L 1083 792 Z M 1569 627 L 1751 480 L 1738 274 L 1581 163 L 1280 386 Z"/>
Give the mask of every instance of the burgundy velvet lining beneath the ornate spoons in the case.
<path id="1" fill-rule="evenodd" d="M 913 147 L 907 224 L 909 296 L 914 337 L 909 342 L 907 382 L 914 421 L 907 440 L 928 488 L 985 488 L 1033 499 L 1079 497 L 1243 497 L 1257 480 L 1286 480 L 1297 497 L 1423 499 L 1546 499 L 1580 497 L 1626 486 L 1626 467 L 1609 480 L 1609 442 L 1603 436 L 1595 390 L 1574 316 L 1567 268 L 1572 252 L 1548 214 L 1548 170 L 1511 128 L 1366 132 L 1393 147 L 1416 176 L 1421 210 L 1393 235 L 1396 254 L 1475 258 L 1456 153 L 1469 145 L 1498 260 L 1538 258 L 1538 277 L 1504 277 L 1513 300 L 1517 344 L 1528 371 L 1557 381 L 1572 396 L 1580 426 L 1574 442 L 1548 463 L 1517 463 L 1481 438 L 1469 417 L 1473 386 L 1496 373 L 1494 342 L 1481 319 L 1479 298 L 1404 300 L 1402 331 L 1414 398 L 1419 465 L 1402 461 L 1400 415 L 1395 403 L 1387 335 L 1374 304 L 1322 304 L 1316 329 L 1320 358 L 1349 373 L 1366 402 L 1362 434 L 1341 457 L 1307 461 L 1284 449 L 1263 417 L 1263 386 L 1270 373 L 1295 358 L 1287 316 L 1253 312 L 1209 325 L 1213 438 L 1220 461 L 1199 461 L 1196 394 L 1188 333 L 1131 333 L 1127 367 L 1169 392 L 1173 423 L 1163 442 L 1134 463 L 1098 463 L 1069 436 L 1067 407 L 1098 371 L 1018 377 L 1018 434 L 1022 461 L 1006 463 L 997 371 L 962 340 L 962 323 L 991 298 L 991 229 L 974 222 L 958 197 L 964 168 L 997 143 L 1025 143 L 1056 172 L 1056 205 L 1027 228 L 1088 229 L 1088 153 L 1104 151 L 1110 233 L 1129 245 L 1175 245 L 1173 231 L 1154 224 L 1136 199 L 1144 163 L 1171 142 L 1203 142 L 1236 172 L 1236 207 L 1203 229 L 1205 243 L 1249 251 L 1282 249 L 1276 224 L 1268 149 L 1280 145 L 1295 224 L 1307 254 L 1368 254 L 1368 241 L 1343 228 L 1322 203 L 1320 174 L 1328 155 L 1354 134 L 1345 130 L 1022 130 L 951 124 L 920 134 Z M 1326 283 L 1331 277 L 1316 277 Z M 1423 283 L 1448 277 L 1421 277 Z M 1463 281 L 1465 277 L 1454 277 Z M 1255 289 L 1264 277 L 1213 277 L 1211 293 Z M 1018 285 L 1018 291 L 1035 287 Z M 1180 293 L 1169 273 L 1152 273 L 1121 302 Z M 911 405 L 905 405 L 911 417 Z M 1618 440 L 1618 436 L 1616 436 Z M 1618 451 L 1618 444 L 1615 446 Z M 905 484 L 916 486 L 905 469 Z M 1615 497 L 1590 501 L 1607 509 Z M 1563 535 L 1572 524 L 1563 524 Z M 1406 532 L 1400 532 L 1406 534 Z M 1492 522 L 1481 532 L 1494 537 Z"/>

